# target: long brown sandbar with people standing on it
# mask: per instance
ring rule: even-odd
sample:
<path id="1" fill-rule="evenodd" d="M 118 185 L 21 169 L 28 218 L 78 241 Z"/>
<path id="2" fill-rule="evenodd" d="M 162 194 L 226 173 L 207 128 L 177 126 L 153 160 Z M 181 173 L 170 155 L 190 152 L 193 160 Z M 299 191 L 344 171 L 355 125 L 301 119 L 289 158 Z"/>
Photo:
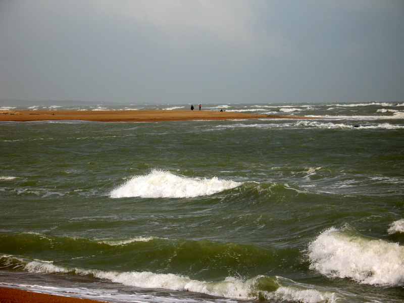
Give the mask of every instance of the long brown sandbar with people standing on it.
<path id="1" fill-rule="evenodd" d="M 311 117 L 275 116 L 234 112 L 148 110 L 148 111 L 0 111 L 0 121 L 85 120 L 99 122 L 158 122 L 184 120 L 241 119 L 313 119 Z M 317 118 L 314 118 L 317 119 Z"/>

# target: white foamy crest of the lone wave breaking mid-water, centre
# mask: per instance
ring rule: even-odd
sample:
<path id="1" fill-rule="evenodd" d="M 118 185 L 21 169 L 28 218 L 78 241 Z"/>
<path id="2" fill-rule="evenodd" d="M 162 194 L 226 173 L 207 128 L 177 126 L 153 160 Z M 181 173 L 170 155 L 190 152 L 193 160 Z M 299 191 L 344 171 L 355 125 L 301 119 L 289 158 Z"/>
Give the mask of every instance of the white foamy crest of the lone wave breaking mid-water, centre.
<path id="1" fill-rule="evenodd" d="M 153 170 L 145 176 L 133 177 L 110 193 L 112 198 L 189 198 L 211 195 L 241 185 L 239 182 L 212 179 L 187 178 L 167 171 Z"/>

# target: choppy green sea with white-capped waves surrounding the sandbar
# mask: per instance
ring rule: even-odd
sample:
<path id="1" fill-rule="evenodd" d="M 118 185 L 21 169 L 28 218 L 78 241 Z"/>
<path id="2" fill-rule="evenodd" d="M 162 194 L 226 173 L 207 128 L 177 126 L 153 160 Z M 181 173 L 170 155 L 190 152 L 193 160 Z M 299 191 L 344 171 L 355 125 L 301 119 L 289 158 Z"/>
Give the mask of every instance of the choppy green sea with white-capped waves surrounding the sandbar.
<path id="1" fill-rule="evenodd" d="M 0 122 L 0 286 L 116 302 L 404 301 L 404 103 L 202 109 L 296 119 Z"/>

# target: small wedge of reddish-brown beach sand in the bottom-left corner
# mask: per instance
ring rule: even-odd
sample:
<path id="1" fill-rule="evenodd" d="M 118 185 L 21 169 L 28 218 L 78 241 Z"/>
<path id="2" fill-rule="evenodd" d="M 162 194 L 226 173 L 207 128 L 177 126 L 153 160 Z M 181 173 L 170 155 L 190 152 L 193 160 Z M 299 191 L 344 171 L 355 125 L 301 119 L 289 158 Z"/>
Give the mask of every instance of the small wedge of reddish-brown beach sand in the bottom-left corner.
<path id="1" fill-rule="evenodd" d="M 100 303 L 100 301 L 0 287 L 0 303 Z"/>

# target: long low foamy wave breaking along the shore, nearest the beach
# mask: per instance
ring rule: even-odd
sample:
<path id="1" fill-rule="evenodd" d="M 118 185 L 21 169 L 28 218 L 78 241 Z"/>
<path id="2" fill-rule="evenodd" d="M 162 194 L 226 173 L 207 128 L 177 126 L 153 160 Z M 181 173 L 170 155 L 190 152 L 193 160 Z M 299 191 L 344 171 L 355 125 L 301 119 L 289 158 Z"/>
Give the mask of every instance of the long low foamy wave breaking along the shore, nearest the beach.
<path id="1" fill-rule="evenodd" d="M 247 300 L 298 301 L 305 303 L 336 302 L 334 292 L 320 291 L 312 286 L 296 283 L 282 277 L 256 276 L 248 280 L 227 277 L 222 281 L 199 281 L 175 274 L 152 272 L 118 272 L 97 269 L 68 268 L 52 261 L 31 261 L 11 255 L 0 257 L 2 267 L 21 268 L 31 273 L 69 273 L 79 276 L 93 276 L 102 280 L 126 286 L 147 289 L 192 291 L 226 298 Z"/>

